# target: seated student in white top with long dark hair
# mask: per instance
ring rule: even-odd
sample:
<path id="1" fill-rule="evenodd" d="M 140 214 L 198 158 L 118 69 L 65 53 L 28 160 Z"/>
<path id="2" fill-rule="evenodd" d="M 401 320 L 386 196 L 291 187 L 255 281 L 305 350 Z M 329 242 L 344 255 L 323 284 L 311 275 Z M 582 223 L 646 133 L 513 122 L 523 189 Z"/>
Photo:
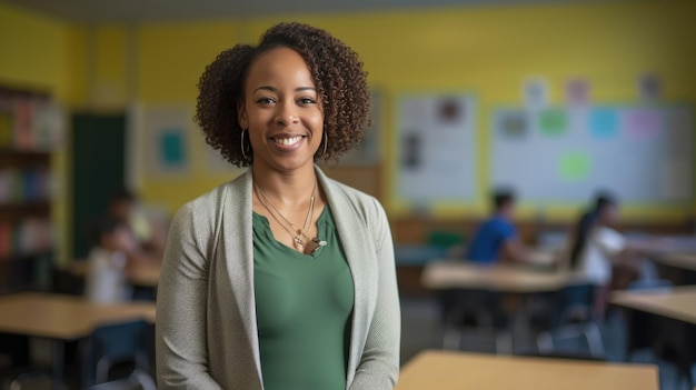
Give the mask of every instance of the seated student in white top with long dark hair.
<path id="1" fill-rule="evenodd" d="M 637 274 L 626 239 L 612 228 L 617 217 L 616 199 L 599 193 L 593 209 L 580 217 L 571 241 L 570 268 L 579 270 L 594 290 L 599 317 L 606 309 L 610 284 L 625 288 Z"/>

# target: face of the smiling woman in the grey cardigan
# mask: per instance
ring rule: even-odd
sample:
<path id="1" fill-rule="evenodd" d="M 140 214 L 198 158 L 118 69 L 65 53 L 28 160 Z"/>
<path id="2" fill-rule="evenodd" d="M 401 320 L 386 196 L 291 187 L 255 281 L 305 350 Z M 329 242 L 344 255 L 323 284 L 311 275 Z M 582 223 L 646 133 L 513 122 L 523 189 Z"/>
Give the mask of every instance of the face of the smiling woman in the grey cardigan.
<path id="1" fill-rule="evenodd" d="M 288 172 L 314 166 L 324 112 L 309 68 L 295 50 L 271 49 L 251 63 L 238 110 L 255 168 Z"/>

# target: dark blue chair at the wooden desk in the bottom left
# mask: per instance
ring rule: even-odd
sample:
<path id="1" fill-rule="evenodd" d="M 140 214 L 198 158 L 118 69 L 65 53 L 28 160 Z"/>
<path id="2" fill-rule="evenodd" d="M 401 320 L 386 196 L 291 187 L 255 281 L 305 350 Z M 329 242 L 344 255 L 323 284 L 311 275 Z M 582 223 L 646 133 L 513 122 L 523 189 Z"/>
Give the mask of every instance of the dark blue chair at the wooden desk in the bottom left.
<path id="1" fill-rule="evenodd" d="M 150 331 L 151 327 L 145 320 L 105 324 L 95 329 L 87 341 L 84 353 L 84 388 L 103 384 L 99 389 L 112 389 L 106 383 L 113 377 L 126 377 L 127 380 L 116 381 L 111 386 L 140 383 L 146 390 L 155 389 L 155 382 L 148 374 Z M 128 371 L 123 372 L 123 368 Z"/>

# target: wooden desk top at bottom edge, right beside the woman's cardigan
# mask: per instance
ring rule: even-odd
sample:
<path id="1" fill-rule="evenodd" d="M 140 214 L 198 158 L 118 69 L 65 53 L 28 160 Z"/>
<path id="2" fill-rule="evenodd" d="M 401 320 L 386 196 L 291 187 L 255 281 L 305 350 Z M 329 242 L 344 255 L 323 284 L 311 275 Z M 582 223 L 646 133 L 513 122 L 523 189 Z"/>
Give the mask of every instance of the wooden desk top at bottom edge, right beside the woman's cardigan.
<path id="1" fill-rule="evenodd" d="M 534 389 L 657 390 L 657 367 L 425 351 L 399 377 L 396 390 Z"/>

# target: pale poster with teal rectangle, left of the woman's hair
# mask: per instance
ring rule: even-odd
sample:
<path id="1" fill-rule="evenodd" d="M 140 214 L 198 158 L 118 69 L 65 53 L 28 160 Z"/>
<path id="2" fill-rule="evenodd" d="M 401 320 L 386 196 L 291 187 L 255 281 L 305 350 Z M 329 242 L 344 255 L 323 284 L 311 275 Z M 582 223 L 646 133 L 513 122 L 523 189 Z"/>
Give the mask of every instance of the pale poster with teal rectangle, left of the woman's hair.
<path id="1" fill-rule="evenodd" d="M 153 176 L 181 176 L 190 170 L 189 129 L 191 111 L 186 107 L 157 107 L 143 111 L 146 164 Z"/>

